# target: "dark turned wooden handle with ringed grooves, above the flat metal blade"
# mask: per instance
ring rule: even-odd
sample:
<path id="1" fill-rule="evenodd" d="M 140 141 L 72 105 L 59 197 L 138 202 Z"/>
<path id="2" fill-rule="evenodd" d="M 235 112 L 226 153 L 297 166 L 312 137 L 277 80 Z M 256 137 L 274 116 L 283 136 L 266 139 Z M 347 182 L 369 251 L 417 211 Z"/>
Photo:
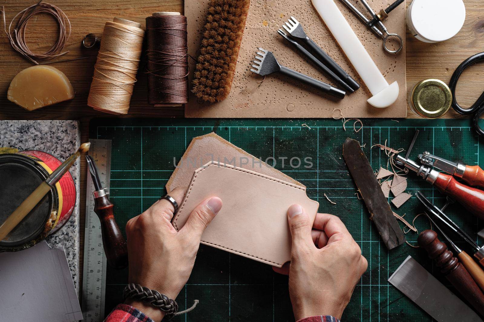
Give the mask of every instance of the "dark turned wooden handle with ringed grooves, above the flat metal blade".
<path id="1" fill-rule="evenodd" d="M 455 289 L 484 317 L 484 294 L 469 275 L 467 269 L 459 263 L 452 252 L 437 238 L 433 230 L 423 231 L 417 238 L 420 247 L 425 249 L 428 256 L 435 260 L 437 267 L 454 285 Z"/>

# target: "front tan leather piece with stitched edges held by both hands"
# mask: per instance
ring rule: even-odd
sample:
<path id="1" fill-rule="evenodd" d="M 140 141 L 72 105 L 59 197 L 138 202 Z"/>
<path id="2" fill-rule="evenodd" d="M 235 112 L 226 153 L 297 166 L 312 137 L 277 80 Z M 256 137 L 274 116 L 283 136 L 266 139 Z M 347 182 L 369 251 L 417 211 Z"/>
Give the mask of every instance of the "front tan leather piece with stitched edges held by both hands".
<path id="1" fill-rule="evenodd" d="M 290 260 L 290 205 L 302 205 L 312 225 L 318 202 L 298 185 L 227 164 L 210 162 L 197 169 L 172 220 L 178 231 L 203 200 L 217 196 L 223 206 L 201 243 L 273 266 Z"/>

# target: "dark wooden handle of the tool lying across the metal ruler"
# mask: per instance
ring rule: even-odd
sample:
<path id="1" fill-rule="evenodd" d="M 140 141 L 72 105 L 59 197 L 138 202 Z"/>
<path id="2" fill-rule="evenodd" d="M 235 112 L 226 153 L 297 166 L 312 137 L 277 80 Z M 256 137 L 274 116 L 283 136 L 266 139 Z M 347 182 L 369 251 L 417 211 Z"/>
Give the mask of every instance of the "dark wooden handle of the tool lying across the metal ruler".
<path id="1" fill-rule="evenodd" d="M 101 221 L 101 233 L 103 235 L 103 246 L 109 266 L 121 269 L 128 265 L 128 249 L 126 240 L 114 220 L 113 204 L 107 196 L 95 199 L 94 212 Z"/>

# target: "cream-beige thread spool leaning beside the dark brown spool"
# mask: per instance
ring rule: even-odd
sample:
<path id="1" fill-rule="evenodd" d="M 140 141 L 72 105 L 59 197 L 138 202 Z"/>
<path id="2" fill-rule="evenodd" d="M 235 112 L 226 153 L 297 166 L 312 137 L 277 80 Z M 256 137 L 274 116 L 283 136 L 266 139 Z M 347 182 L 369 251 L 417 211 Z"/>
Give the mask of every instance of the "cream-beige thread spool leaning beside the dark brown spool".
<path id="1" fill-rule="evenodd" d="M 122 18 L 106 21 L 88 97 L 95 110 L 128 113 L 145 33 L 140 27 Z"/>

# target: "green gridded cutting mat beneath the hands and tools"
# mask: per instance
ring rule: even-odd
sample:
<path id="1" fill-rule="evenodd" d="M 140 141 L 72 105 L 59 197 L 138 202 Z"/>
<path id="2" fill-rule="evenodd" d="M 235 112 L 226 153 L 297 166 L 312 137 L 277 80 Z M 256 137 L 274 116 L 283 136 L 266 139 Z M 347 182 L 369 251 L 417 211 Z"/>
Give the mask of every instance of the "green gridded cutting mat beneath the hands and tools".
<path id="1" fill-rule="evenodd" d="M 174 170 L 174 158 L 177 163 L 191 139 L 213 131 L 263 160 L 275 158 L 277 169 L 307 186 L 308 196 L 319 202 L 319 212 L 337 215 L 347 225 L 368 260 L 368 270 L 356 286 L 343 321 L 432 321 L 387 279 L 411 255 L 429 271 L 435 271 L 443 283 L 448 283 L 423 250 L 404 244 L 387 251 L 368 219 L 363 202 L 355 194 L 355 185 L 342 159 L 342 145 L 347 137 L 359 140 L 374 170 L 386 166 L 387 158 L 377 147 L 372 149 L 372 145 L 386 141 L 387 146 L 407 149 L 416 129 L 420 135 L 410 155 L 413 159 L 427 150 L 474 165 L 483 158 L 484 149 L 480 150 L 469 120 L 363 119 L 363 130 L 357 133 L 353 132 L 352 123 L 347 123 L 345 132 L 341 120 L 333 119 L 95 119 L 90 131 L 91 138 L 112 140 L 110 193 L 122 229 L 129 218 L 146 210 L 165 193 L 166 181 Z M 310 157 L 313 165 L 292 168 L 288 161 L 293 157 L 302 160 Z M 284 166 L 279 158 L 287 158 Z M 439 191 L 413 173 L 408 178 L 407 191 L 415 194 L 420 190 L 437 205 L 444 204 L 445 198 Z M 324 193 L 336 205 L 328 202 Z M 392 208 L 401 216 L 406 214 L 408 221 L 423 211 L 415 197 L 400 209 Z M 447 209 L 465 231 L 483 242 L 475 234 L 482 222 L 458 205 Z M 416 220 L 416 225 L 419 231 L 429 227 L 423 216 Z M 412 244 L 416 237 L 412 232 L 407 234 Z M 126 282 L 127 270 L 108 270 L 106 314 L 120 303 Z M 269 265 L 203 245 L 192 276 L 177 301 L 180 309 L 184 309 L 195 299 L 200 300 L 197 308 L 174 321 L 294 321 L 286 276 L 274 274 Z"/>

